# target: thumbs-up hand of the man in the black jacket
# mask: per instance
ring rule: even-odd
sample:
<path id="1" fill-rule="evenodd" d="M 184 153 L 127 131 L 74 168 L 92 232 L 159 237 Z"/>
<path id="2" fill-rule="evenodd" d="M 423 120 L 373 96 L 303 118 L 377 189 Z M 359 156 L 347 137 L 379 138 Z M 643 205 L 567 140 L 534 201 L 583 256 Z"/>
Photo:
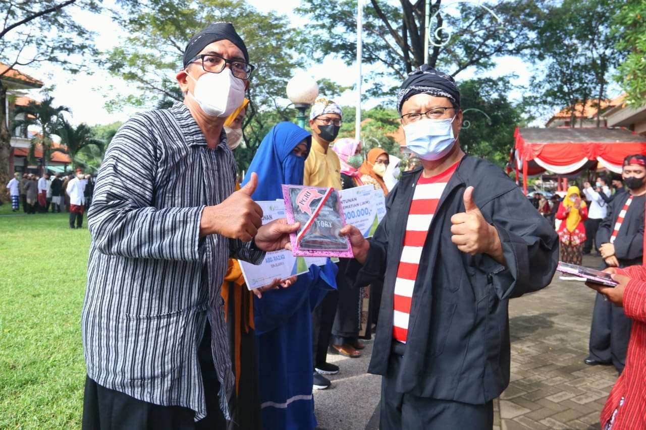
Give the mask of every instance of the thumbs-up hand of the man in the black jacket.
<path id="1" fill-rule="evenodd" d="M 490 225 L 474 201 L 474 187 L 464 190 L 464 212 L 451 217 L 451 241 L 468 254 L 489 254 L 504 263 L 503 247 L 498 230 Z"/>

